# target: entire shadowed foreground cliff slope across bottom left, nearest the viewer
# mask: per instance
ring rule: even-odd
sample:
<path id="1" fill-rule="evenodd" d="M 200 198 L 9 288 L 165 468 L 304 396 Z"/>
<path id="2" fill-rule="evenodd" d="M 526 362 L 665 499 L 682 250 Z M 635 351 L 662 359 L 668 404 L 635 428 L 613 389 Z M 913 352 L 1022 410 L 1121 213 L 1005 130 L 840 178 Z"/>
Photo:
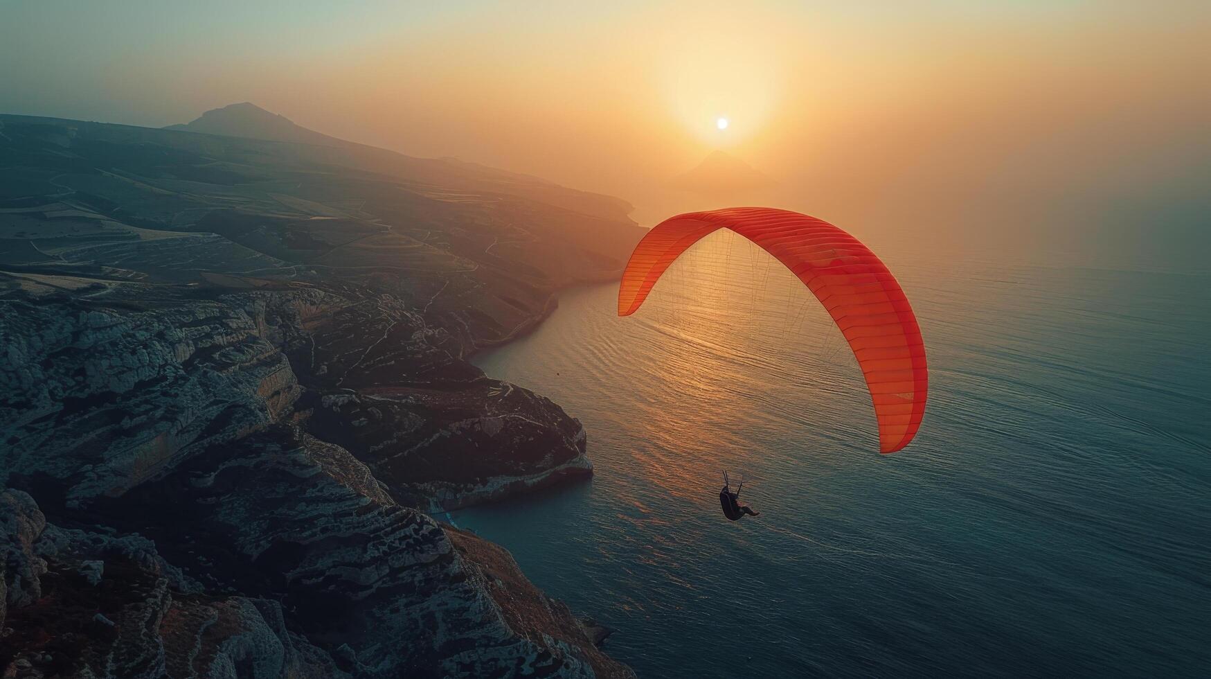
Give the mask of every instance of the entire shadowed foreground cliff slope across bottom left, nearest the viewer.
<path id="1" fill-rule="evenodd" d="M 630 675 L 503 549 L 467 548 L 482 541 L 395 504 L 348 451 L 297 429 L 270 427 L 65 515 L 116 532 L 58 529 L 21 491 L 0 493 L 0 664 L 115 678 Z M 544 615 L 513 615 L 520 599 Z"/>

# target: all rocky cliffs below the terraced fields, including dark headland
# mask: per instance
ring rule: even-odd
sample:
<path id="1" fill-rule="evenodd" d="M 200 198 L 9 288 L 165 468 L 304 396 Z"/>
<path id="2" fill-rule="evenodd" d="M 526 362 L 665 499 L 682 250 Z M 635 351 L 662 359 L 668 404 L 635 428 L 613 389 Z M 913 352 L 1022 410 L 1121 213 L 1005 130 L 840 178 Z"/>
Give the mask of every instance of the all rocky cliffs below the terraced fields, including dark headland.
<path id="1" fill-rule="evenodd" d="M 48 523 L 23 491 L 0 496 L 0 664 L 33 677 L 629 674 L 507 553 L 417 509 L 587 474 L 584 429 L 557 405 L 434 358 L 430 342 L 448 337 L 436 330 L 383 350 L 331 330 L 392 299 L 127 295 L 0 297 L 4 480 L 84 526 Z M 342 387 L 366 360 L 395 386 Z M 417 360 L 465 367 L 426 376 Z M 529 599 L 546 612 L 515 615 Z"/>

